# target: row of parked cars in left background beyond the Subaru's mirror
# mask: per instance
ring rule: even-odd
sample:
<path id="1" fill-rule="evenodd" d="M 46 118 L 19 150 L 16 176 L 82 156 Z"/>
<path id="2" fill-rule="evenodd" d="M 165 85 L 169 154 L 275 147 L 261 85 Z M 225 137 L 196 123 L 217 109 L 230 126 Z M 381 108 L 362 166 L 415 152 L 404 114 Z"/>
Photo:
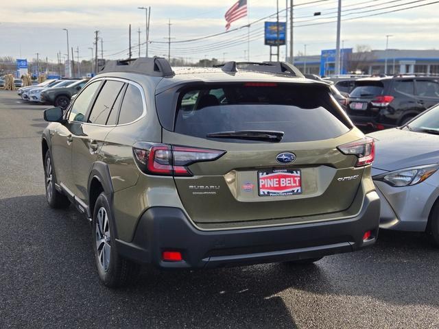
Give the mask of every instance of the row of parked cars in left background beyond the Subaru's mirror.
<path id="1" fill-rule="evenodd" d="M 47 80 L 37 86 L 23 87 L 17 94 L 25 101 L 47 103 L 67 108 L 73 95 L 86 84 L 88 79 Z"/>

